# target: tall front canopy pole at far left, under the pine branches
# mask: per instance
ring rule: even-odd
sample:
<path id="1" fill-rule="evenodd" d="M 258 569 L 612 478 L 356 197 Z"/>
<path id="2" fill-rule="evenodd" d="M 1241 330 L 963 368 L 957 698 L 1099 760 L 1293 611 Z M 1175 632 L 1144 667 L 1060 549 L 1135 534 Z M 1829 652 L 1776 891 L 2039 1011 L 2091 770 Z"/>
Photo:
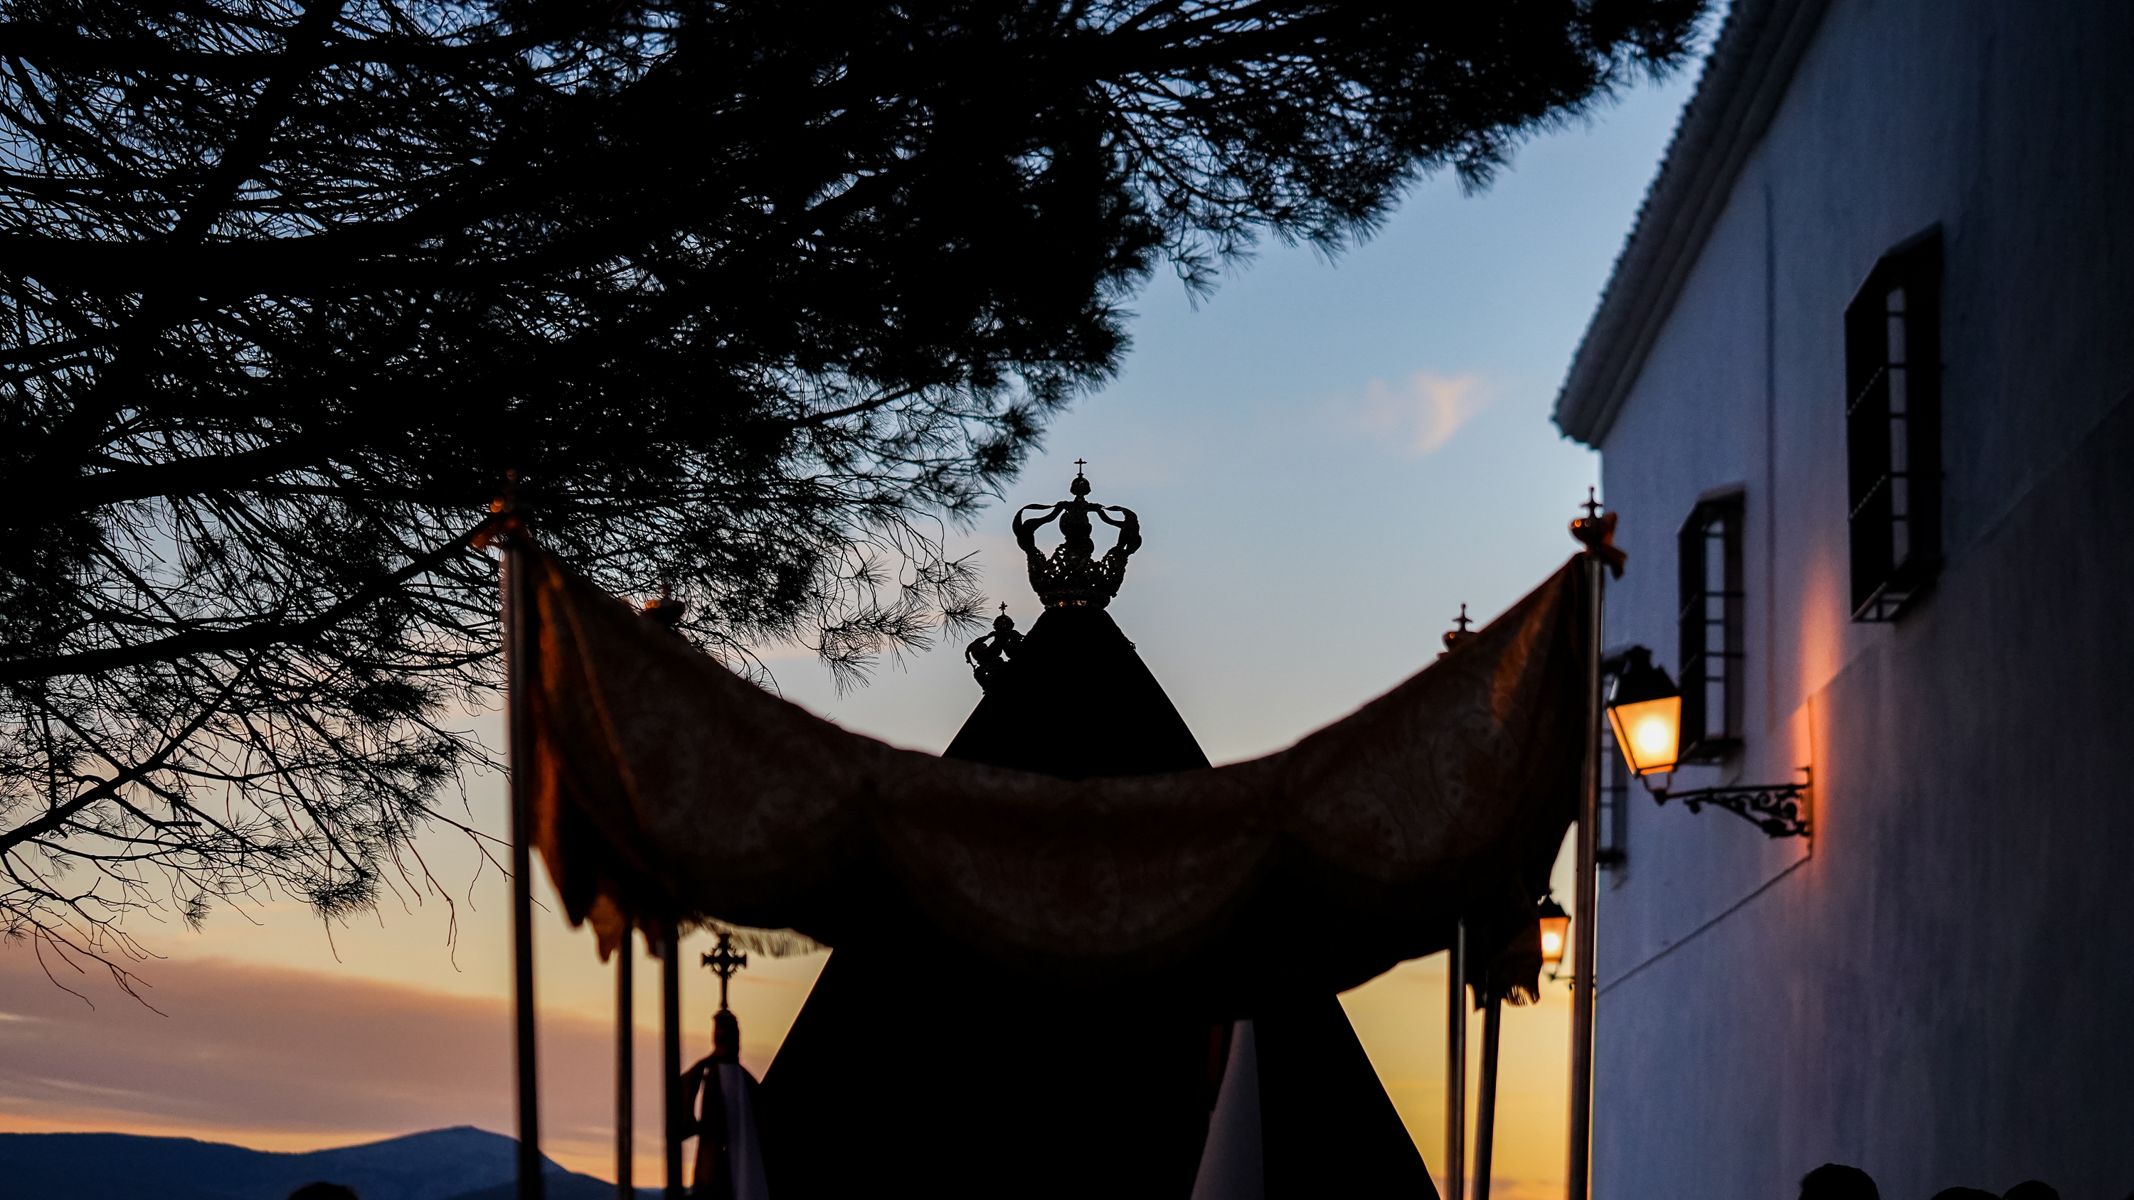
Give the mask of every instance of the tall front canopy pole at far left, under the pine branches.
<path id="1" fill-rule="evenodd" d="M 504 755 L 512 799 L 512 1025 L 519 1042 L 519 1200 L 542 1200 L 540 1172 L 540 1076 L 534 1059 L 534 812 L 525 787 L 527 723 L 525 622 L 521 620 L 523 558 L 512 541 L 504 546 Z"/>

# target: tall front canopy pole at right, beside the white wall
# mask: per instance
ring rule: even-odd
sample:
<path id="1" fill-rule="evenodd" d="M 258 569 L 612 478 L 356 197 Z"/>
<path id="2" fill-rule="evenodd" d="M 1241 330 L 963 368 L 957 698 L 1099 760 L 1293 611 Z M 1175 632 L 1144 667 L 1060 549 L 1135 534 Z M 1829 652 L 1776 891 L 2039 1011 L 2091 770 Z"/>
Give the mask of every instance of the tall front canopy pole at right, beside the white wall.
<path id="1" fill-rule="evenodd" d="M 1594 1149 L 1594 919 L 1600 870 L 1600 554 L 1586 552 L 1586 772 L 1579 780 L 1579 878 L 1571 914 L 1571 1168 L 1568 1200 L 1592 1194 Z"/>

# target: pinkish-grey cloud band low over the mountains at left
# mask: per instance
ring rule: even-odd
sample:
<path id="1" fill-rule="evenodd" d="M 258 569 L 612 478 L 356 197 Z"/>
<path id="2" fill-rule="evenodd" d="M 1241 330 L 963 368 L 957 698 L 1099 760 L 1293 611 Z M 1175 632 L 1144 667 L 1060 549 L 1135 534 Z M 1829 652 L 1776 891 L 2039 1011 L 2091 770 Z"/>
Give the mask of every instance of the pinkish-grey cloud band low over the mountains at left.
<path id="1" fill-rule="evenodd" d="M 0 953 L 0 1002 L 15 1017 L 0 1023 L 0 1130 L 314 1149 L 444 1125 L 512 1128 L 501 998 L 226 959 L 160 961 L 154 983 L 169 1017 L 126 1000 L 87 1010 L 30 955 Z M 642 1029 L 638 1042 L 644 1121 L 657 1115 L 659 1049 Z M 542 1015 L 544 1149 L 602 1177 L 612 1047 L 606 1021 Z"/>

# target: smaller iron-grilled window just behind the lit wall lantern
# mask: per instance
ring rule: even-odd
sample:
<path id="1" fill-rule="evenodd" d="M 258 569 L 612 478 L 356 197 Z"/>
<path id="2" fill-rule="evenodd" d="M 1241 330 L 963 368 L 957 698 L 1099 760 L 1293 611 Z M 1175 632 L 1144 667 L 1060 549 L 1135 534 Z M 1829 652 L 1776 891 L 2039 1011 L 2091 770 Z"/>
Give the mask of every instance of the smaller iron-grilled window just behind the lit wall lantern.
<path id="1" fill-rule="evenodd" d="M 1741 492 L 1705 497 L 1682 524 L 1682 761 L 1741 744 Z"/>

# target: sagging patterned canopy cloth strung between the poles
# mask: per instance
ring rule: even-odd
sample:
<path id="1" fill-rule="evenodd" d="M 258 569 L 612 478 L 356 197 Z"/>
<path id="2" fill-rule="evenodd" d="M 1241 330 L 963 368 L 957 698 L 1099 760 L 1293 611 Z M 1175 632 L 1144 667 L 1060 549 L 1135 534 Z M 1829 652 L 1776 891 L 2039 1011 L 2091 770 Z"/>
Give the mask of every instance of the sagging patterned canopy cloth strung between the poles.
<path id="1" fill-rule="evenodd" d="M 1353 987 L 1447 944 L 1539 970 L 1575 814 L 1581 571 L 1289 750 L 1063 780 L 898 750 L 728 671 L 514 535 L 514 740 L 536 844 L 602 953 L 630 925 L 819 942 L 924 921 L 1063 980 Z M 1063 735 L 1101 735 L 1105 714 Z"/>

